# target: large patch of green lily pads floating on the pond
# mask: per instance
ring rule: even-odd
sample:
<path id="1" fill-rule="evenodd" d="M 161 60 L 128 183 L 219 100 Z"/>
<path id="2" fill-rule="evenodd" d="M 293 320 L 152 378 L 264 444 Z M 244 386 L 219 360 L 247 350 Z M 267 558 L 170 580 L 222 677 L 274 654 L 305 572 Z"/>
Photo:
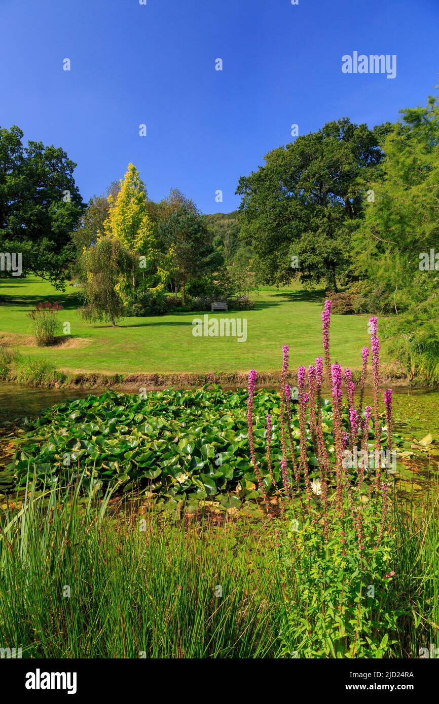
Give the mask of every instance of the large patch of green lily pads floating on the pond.
<path id="1" fill-rule="evenodd" d="M 39 479 L 50 472 L 62 483 L 67 482 L 72 468 L 63 462 L 64 453 L 70 453 L 73 467 L 80 460 L 82 467 L 94 467 L 105 482 L 140 480 L 144 484 L 146 480 L 151 482 L 152 491 L 171 503 L 227 491 L 237 491 L 241 499 L 255 498 L 259 490 L 249 460 L 246 403 L 244 389 L 222 391 L 218 386 L 213 391 L 154 391 L 147 398 L 106 391 L 102 396 L 62 403 L 32 422 L 30 432 L 20 442 L 15 462 L 18 481 L 26 481 L 30 460 Z M 256 451 L 268 484 L 266 414 L 273 414 L 275 419 L 272 450 L 275 477 L 280 482 L 282 452 L 276 392 L 256 394 L 255 413 Z M 331 444 L 328 401 L 323 406 L 323 420 Z M 292 428 L 297 439 L 299 420 L 295 413 Z M 311 450 L 309 453 L 311 465 L 316 467 L 315 455 Z"/>

